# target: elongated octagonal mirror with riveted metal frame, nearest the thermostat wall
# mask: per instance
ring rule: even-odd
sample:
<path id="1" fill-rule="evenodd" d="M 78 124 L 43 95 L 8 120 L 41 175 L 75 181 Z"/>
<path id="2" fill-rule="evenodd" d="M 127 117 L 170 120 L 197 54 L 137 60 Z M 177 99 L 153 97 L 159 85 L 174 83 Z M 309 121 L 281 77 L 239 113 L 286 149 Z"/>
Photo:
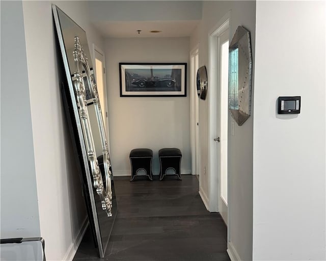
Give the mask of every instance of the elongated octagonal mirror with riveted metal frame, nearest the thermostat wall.
<path id="1" fill-rule="evenodd" d="M 251 114 L 250 33 L 239 26 L 229 46 L 229 111 L 241 126 Z"/>

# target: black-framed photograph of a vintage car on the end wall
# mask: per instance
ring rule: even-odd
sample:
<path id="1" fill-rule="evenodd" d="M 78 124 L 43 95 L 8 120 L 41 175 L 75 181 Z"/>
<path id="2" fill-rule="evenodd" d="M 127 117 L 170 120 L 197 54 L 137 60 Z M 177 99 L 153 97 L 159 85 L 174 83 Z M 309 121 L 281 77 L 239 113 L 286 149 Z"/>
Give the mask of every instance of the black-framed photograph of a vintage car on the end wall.
<path id="1" fill-rule="evenodd" d="M 119 63 L 120 97 L 186 96 L 186 63 Z"/>

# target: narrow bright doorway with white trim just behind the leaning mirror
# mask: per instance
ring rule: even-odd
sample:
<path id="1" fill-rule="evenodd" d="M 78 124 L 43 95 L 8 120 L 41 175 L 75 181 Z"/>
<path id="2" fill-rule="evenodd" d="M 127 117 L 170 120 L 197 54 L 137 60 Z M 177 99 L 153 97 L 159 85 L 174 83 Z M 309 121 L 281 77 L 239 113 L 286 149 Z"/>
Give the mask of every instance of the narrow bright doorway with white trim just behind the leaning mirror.
<path id="1" fill-rule="evenodd" d="M 106 132 L 107 142 L 109 141 L 108 132 L 108 112 L 107 112 L 107 93 L 106 93 L 106 76 L 105 76 L 105 60 L 104 53 L 94 45 L 94 68 L 96 76 L 96 86 L 98 97 L 101 104 L 102 116 L 104 120 L 104 128 Z M 110 152 L 110 143 L 108 142 L 108 150 Z"/>

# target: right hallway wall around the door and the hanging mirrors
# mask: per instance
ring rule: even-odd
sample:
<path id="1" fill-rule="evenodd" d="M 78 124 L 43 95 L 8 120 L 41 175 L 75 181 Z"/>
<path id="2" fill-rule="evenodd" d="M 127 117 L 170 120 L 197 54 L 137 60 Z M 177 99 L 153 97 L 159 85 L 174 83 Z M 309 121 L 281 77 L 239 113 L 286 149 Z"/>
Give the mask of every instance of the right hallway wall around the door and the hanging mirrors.
<path id="1" fill-rule="evenodd" d="M 255 54 L 255 1 L 205 1 L 202 21 L 191 37 L 191 49 L 199 43 L 199 66 L 206 65 L 209 73 L 209 36 L 216 24 L 231 10 L 230 40 L 238 25 L 250 31 L 253 58 Z M 253 61 L 253 66 L 255 61 Z M 254 72 L 254 69 L 253 69 Z M 254 82 L 254 81 L 253 81 Z M 209 85 L 208 88 L 216 88 Z M 254 83 L 252 88 L 254 89 Z M 209 201 L 209 95 L 199 102 L 200 140 L 200 192 Z M 253 99 L 252 99 L 253 100 Z M 253 102 L 252 102 L 253 105 Z M 253 110 L 252 106 L 252 110 Z M 235 123 L 234 136 L 231 136 L 231 116 L 229 115 L 229 215 L 230 223 L 228 245 L 232 253 L 249 260 L 252 258 L 252 191 L 253 191 L 253 117 L 242 126 Z M 206 175 L 204 174 L 206 168 Z"/>

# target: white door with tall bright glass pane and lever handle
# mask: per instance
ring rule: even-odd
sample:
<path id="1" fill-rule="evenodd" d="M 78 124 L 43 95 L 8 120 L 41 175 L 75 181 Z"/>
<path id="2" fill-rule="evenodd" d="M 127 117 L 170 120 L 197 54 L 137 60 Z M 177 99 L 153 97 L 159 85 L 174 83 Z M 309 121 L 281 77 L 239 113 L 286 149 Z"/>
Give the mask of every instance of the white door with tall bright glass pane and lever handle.
<path id="1" fill-rule="evenodd" d="M 220 133 L 219 160 L 220 195 L 219 211 L 225 223 L 228 220 L 228 70 L 229 70 L 229 30 L 219 36 L 219 75 L 220 104 L 218 113 L 218 132 Z"/>

